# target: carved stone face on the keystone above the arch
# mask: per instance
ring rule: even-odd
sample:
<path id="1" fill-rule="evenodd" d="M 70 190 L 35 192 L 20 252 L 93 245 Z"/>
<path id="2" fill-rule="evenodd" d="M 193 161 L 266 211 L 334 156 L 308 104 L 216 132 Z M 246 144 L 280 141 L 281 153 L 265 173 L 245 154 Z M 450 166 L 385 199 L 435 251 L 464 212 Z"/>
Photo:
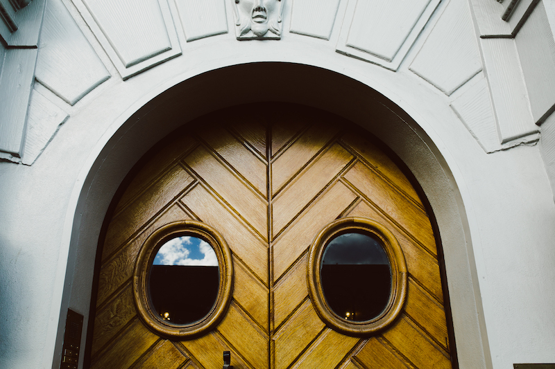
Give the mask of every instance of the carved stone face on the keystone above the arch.
<path id="1" fill-rule="evenodd" d="M 281 0 L 234 0 L 234 6 L 237 39 L 280 39 Z"/>

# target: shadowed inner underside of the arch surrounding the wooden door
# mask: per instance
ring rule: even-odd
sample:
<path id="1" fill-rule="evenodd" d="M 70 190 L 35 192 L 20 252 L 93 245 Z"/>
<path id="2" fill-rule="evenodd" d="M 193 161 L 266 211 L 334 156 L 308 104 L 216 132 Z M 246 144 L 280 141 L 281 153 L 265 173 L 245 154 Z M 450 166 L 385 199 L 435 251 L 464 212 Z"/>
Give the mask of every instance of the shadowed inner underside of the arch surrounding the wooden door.
<path id="1" fill-rule="evenodd" d="M 295 102 L 343 116 L 377 136 L 404 161 L 437 219 L 459 366 L 486 368 L 488 348 L 468 221 L 454 174 L 440 150 L 441 142 L 417 123 L 413 117 L 418 112 L 410 107 L 400 107 L 347 75 L 304 64 L 260 62 L 214 69 L 173 85 L 146 104 L 130 108 L 127 117 L 118 118 L 83 165 L 81 181 L 72 194 L 65 225 L 69 258 L 61 311 L 65 312 L 69 301 L 77 296 L 90 301 L 101 226 L 114 193 L 137 160 L 173 129 L 198 116 L 263 101 Z M 74 275 L 76 264 L 83 266 L 82 276 Z M 63 328 L 58 327 L 60 346 Z"/>

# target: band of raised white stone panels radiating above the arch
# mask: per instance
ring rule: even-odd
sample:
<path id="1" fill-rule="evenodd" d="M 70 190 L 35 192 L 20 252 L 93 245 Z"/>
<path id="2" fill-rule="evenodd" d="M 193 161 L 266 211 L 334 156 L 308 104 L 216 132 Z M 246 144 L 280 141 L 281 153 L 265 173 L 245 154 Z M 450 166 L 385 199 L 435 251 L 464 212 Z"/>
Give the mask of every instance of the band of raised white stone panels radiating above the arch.
<path id="1" fill-rule="evenodd" d="M 99 42 L 120 78 L 128 80 L 182 54 L 186 60 L 200 39 L 219 37 L 219 44 L 239 47 L 234 45 L 237 40 L 227 36 L 230 24 L 238 40 L 289 42 L 298 36 L 307 46 L 335 44 L 336 52 L 391 73 L 408 69 L 432 89 L 445 93 L 446 104 L 488 153 L 536 143 L 537 125 L 555 107 L 555 95 L 549 89 L 549 81 L 555 83 L 555 51 L 549 48 L 553 33 L 545 32 L 545 8 L 537 0 L 521 1 L 506 21 L 499 14 L 511 1 L 419 0 L 407 7 L 377 0 L 265 0 L 268 3 L 264 2 L 262 9 L 273 7 L 267 16 L 278 26 L 273 31 L 268 26 L 259 35 L 241 30 L 245 17 L 240 14 L 248 12 L 241 6 L 248 8 L 250 0 L 71 1 L 82 18 L 76 18 L 75 12 L 70 15 L 68 2 L 49 2 L 43 26 L 46 47 L 41 46 L 36 73 L 36 49 L 22 49 L 17 57 L 10 48 L 4 51 L 7 62 L 0 81 L 2 90 L 11 89 L 7 87 L 10 83 L 17 84 L 15 95 L 22 97 L 0 102 L 0 111 L 8 117 L 0 123 L 0 159 L 22 162 L 27 133 L 25 101 L 30 101 L 34 78 L 69 105 L 66 111 L 110 78 L 109 66 L 101 62 L 99 49 L 91 44 Z M 34 7 L 35 13 L 40 13 L 44 2 L 35 0 L 19 12 Z M 131 6 L 133 12 L 128 11 Z M 524 24 L 529 18 L 532 26 Z M 90 31 L 85 35 L 84 27 L 96 39 L 87 39 Z M 537 55 L 543 57 L 539 65 Z M 28 58 L 26 74 L 10 72 L 10 60 L 24 58 Z M 543 83 L 538 76 L 548 81 Z M 479 87 L 475 87 L 477 80 Z M 464 91 L 473 89 L 482 96 L 479 102 L 463 98 Z M 17 105 L 16 101 L 24 103 Z"/>

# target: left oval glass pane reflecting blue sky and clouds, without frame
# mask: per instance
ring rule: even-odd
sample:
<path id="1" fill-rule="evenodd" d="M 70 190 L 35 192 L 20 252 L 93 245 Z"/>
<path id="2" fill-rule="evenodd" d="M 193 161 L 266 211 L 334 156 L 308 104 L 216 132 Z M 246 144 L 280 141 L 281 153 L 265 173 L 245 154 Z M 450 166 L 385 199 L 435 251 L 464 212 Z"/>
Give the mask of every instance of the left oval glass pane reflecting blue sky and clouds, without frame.
<path id="1" fill-rule="evenodd" d="M 150 293 L 160 318 L 189 324 L 216 303 L 219 267 L 212 246 L 197 237 L 173 238 L 158 250 L 150 273 Z"/>

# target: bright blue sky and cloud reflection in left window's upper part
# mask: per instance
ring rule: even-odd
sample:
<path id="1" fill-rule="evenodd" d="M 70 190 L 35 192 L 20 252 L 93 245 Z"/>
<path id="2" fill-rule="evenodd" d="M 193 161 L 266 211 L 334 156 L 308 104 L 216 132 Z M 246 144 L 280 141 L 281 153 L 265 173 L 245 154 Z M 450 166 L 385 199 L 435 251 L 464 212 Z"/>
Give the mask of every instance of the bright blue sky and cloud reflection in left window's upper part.
<path id="1" fill-rule="evenodd" d="M 182 236 L 166 242 L 154 258 L 155 265 L 195 265 L 217 267 L 212 246 L 196 237 Z"/>

